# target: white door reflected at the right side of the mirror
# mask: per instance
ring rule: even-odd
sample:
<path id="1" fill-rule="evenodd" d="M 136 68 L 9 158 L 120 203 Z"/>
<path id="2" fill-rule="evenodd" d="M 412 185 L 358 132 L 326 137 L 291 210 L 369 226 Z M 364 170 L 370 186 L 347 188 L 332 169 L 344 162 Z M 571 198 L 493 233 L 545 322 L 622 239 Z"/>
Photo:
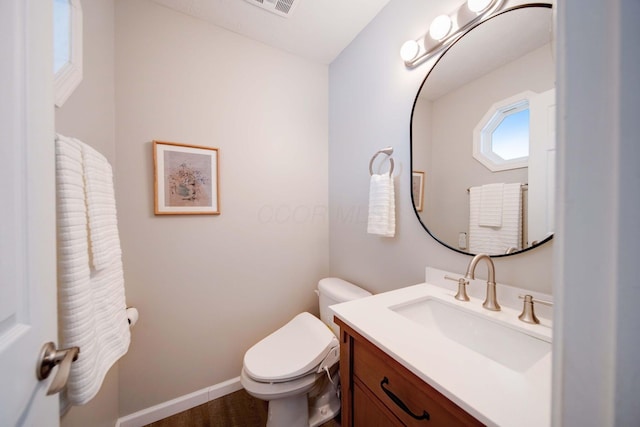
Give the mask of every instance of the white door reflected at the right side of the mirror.
<path id="1" fill-rule="evenodd" d="M 554 230 L 556 164 L 556 91 L 529 99 L 529 244 Z"/>

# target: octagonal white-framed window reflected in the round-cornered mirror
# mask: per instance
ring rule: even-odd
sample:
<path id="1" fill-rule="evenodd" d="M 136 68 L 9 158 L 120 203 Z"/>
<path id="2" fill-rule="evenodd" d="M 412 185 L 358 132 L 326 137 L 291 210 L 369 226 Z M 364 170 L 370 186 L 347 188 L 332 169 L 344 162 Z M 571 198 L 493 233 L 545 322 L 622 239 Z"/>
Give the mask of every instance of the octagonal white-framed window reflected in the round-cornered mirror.
<path id="1" fill-rule="evenodd" d="M 476 126 L 473 156 L 492 172 L 526 168 L 529 160 L 529 96 L 494 104 Z"/>

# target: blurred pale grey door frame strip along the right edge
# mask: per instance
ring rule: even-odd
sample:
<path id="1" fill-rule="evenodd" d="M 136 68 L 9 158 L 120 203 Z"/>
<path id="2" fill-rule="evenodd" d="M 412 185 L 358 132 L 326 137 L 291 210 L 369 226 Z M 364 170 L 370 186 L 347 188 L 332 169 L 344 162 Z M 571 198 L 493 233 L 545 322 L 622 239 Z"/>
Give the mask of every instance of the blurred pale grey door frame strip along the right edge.
<path id="1" fill-rule="evenodd" d="M 640 425 L 639 19 L 637 0 L 558 7 L 559 427 Z"/>

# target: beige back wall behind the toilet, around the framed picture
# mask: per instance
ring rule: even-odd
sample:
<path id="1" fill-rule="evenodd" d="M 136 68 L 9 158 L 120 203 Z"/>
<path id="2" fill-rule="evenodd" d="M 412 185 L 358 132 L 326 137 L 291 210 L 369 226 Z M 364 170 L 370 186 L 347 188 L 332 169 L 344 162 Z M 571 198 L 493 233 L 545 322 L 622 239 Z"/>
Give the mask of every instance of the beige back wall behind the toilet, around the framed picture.
<path id="1" fill-rule="evenodd" d="M 328 274 L 328 69 L 148 0 L 116 1 L 120 414 L 240 374 Z M 219 216 L 154 216 L 152 140 L 220 149 Z"/>

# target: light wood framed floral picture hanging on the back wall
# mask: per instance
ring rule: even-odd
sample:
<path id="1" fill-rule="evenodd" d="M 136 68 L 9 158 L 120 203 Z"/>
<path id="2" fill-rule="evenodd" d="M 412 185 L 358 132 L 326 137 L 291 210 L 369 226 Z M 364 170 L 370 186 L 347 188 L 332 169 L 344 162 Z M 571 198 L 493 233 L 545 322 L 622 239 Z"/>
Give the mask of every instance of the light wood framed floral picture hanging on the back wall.
<path id="1" fill-rule="evenodd" d="M 218 149 L 153 141 L 156 215 L 219 215 Z"/>

